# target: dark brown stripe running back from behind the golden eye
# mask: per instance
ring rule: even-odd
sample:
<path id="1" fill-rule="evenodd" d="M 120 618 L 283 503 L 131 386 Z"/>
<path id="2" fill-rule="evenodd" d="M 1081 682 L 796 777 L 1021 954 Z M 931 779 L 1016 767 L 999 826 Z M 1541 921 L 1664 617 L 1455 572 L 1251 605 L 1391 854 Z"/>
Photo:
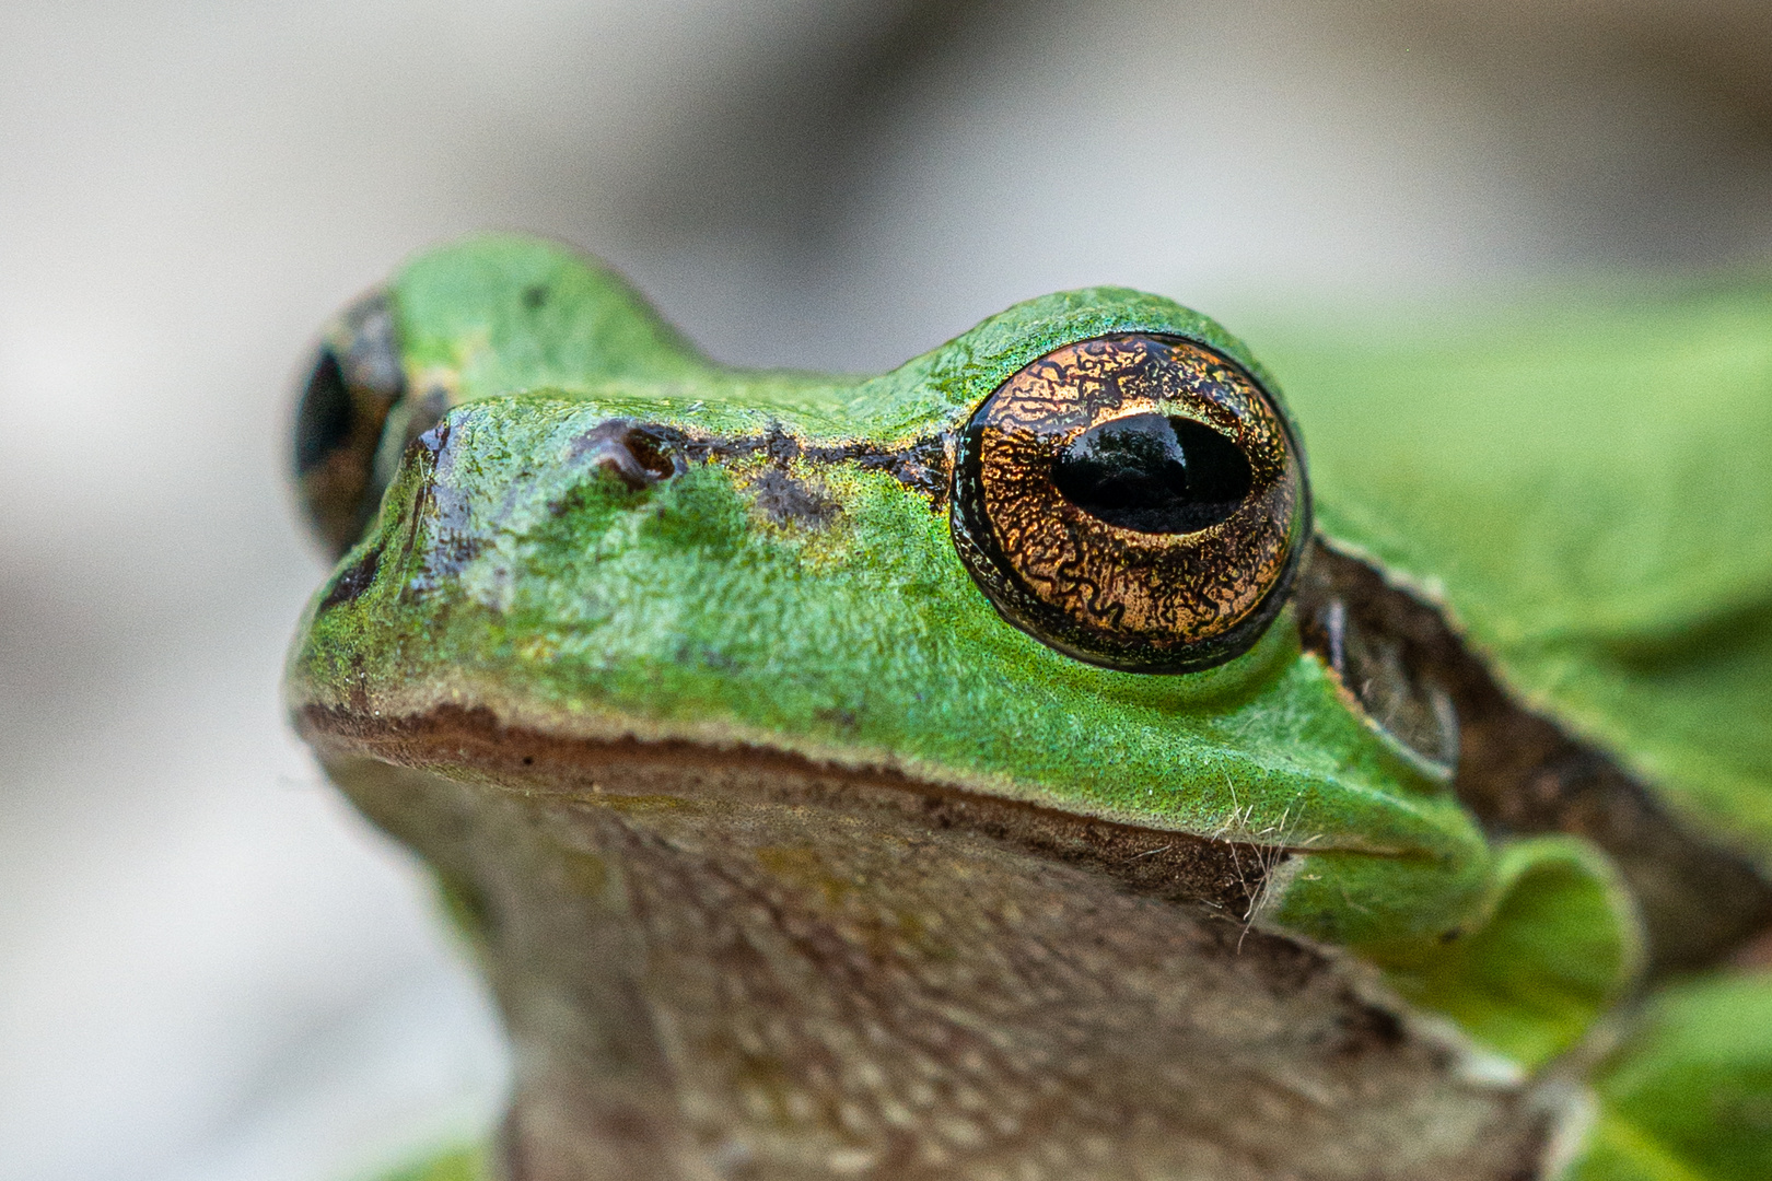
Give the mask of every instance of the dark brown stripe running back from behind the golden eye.
<path id="1" fill-rule="evenodd" d="M 1690 832 L 1604 751 L 1522 708 L 1437 606 L 1318 535 L 1297 609 L 1304 646 L 1372 712 L 1340 627 L 1449 696 L 1453 790 L 1490 834 L 1570 832 L 1613 857 L 1643 908 L 1652 976 L 1708 967 L 1772 930 L 1772 885 L 1745 859 Z"/>

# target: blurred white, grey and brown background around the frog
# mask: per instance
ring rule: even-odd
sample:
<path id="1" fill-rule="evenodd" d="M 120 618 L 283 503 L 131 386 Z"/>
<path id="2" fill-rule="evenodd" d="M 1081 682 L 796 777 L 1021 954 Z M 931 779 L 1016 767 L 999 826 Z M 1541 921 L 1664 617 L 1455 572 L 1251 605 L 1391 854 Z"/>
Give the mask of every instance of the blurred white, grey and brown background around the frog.
<path id="1" fill-rule="evenodd" d="M 486 227 L 714 356 L 1772 262 L 1760 0 L 0 2 L 0 1179 L 330 1181 L 496 1112 L 285 731 L 312 333 Z"/>

